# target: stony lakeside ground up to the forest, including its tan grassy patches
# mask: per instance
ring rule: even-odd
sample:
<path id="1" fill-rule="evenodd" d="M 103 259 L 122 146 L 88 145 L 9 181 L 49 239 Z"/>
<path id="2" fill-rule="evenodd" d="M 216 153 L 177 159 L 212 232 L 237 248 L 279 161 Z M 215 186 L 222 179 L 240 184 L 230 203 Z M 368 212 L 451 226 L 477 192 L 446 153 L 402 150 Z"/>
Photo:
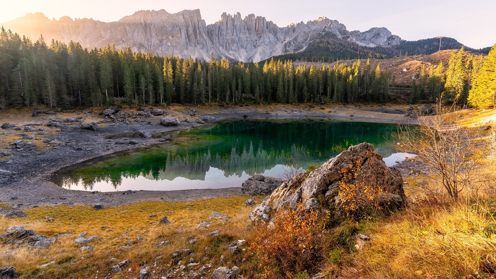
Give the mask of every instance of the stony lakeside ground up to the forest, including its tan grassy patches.
<path id="1" fill-rule="evenodd" d="M 218 120 L 312 117 L 415 123 L 415 118 L 405 117 L 406 113 L 411 112 L 412 108 L 408 105 L 394 104 L 172 105 L 161 109 L 127 108 L 114 113 L 107 111 L 106 114 L 98 109 L 40 111 L 34 114 L 32 110 L 6 111 L 0 114 L 0 122 L 10 124 L 2 128 L 0 135 L 0 203 L 7 208 L 25 209 L 60 204 L 94 205 L 98 202 L 115 206 L 145 200 L 186 201 L 240 196 L 243 195 L 241 188 L 137 191 L 129 195 L 122 192 L 92 193 L 67 190 L 49 179 L 56 175 L 57 170 L 68 165 L 173 141 L 174 131 L 203 125 L 199 119 L 207 115 Z M 179 126 L 160 125 L 164 116 L 177 117 Z"/>

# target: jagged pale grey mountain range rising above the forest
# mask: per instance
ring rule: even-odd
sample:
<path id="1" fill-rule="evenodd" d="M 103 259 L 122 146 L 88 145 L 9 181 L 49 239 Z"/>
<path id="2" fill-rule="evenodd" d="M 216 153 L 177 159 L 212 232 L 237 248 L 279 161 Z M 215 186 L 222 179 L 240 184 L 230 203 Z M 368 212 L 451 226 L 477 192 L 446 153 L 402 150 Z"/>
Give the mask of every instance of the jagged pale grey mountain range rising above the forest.
<path id="1" fill-rule="evenodd" d="M 68 16 L 50 20 L 42 13 L 29 13 L 2 24 L 31 38 L 44 34 L 48 41 L 72 40 L 80 42 L 83 48 L 115 44 L 116 48 L 130 47 L 135 52 L 191 56 L 205 61 L 213 57 L 258 62 L 304 50 L 311 41 L 326 33 L 363 46 L 390 46 L 401 41 L 386 28 L 350 32 L 343 24 L 326 17 L 278 27 L 262 16 L 223 13 L 219 21 L 206 25 L 198 9 L 173 14 L 163 9 L 140 10 L 108 23 L 87 18 L 72 20 Z"/>

